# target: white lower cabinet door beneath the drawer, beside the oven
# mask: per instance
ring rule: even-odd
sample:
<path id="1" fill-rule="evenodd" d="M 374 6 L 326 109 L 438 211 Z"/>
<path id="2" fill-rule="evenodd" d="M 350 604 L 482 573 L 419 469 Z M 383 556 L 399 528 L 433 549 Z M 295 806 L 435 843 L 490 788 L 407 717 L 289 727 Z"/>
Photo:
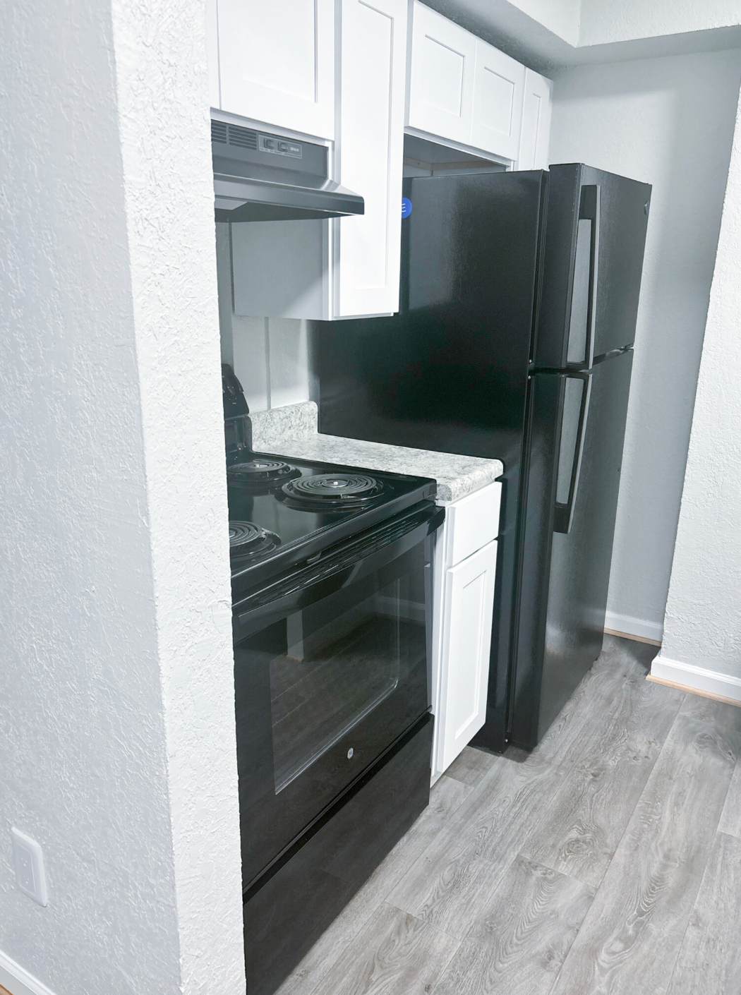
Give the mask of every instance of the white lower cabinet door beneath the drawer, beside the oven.
<path id="1" fill-rule="evenodd" d="M 442 772 L 481 728 L 496 576 L 496 540 L 447 571 L 436 765 Z"/>

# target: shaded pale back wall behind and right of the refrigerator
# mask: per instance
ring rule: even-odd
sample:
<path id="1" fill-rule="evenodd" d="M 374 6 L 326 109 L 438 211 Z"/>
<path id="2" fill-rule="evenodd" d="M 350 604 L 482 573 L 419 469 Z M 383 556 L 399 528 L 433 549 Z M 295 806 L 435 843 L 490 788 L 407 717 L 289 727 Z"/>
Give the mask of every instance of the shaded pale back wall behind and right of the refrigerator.
<path id="1" fill-rule="evenodd" d="M 608 611 L 661 638 L 741 53 L 556 75 L 552 162 L 651 183 L 644 281 Z"/>

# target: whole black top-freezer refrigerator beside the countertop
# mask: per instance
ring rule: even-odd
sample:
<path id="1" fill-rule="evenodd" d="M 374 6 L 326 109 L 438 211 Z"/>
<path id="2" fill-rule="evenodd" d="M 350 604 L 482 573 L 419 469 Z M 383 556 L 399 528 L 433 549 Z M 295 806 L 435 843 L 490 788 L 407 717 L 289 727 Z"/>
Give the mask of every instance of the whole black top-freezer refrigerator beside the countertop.
<path id="1" fill-rule="evenodd" d="M 650 187 L 404 181 L 391 317 L 319 325 L 319 428 L 504 464 L 486 722 L 533 747 L 602 650 Z"/>

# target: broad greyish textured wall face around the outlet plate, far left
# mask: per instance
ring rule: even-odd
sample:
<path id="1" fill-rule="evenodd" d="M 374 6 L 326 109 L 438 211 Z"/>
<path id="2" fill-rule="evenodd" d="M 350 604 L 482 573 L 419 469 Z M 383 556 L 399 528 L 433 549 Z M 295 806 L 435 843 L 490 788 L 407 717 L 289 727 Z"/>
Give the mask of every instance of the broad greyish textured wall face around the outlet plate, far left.
<path id="1" fill-rule="evenodd" d="M 0 5 L 0 950 L 180 991 L 109 4 Z M 15 887 L 37 840 L 47 907 Z"/>

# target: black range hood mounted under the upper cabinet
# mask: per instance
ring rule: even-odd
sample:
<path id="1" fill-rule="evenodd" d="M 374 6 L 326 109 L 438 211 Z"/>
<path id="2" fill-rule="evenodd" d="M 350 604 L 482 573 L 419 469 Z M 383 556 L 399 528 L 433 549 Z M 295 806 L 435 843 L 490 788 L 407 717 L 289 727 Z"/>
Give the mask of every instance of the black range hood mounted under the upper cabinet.
<path id="1" fill-rule="evenodd" d="M 363 198 L 328 178 L 324 145 L 211 121 L 217 221 L 363 214 Z"/>

